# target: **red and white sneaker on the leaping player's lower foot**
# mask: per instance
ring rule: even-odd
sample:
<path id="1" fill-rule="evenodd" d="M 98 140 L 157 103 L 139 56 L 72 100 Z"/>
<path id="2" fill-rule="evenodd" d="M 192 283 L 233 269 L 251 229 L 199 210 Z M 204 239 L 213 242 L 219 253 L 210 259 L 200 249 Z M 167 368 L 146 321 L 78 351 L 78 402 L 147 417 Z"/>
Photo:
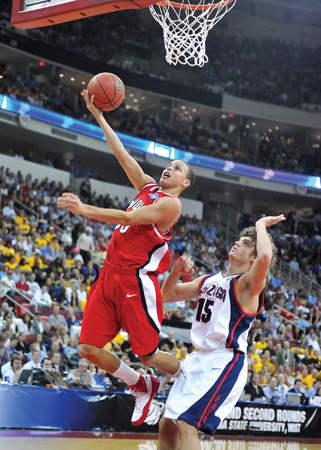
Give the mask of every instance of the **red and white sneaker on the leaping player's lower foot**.
<path id="1" fill-rule="evenodd" d="M 147 417 L 151 401 L 158 391 L 159 381 L 153 375 L 140 375 L 138 383 L 128 387 L 130 394 L 136 399 L 132 424 L 134 427 L 138 427 Z"/>

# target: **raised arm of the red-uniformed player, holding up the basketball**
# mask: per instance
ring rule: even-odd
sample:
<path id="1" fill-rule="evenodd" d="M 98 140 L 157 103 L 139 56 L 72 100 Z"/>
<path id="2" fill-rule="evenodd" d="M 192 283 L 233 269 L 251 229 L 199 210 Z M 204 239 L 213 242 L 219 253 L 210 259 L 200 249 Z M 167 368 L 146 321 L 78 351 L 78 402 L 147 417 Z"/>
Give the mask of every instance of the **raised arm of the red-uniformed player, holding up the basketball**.
<path id="1" fill-rule="evenodd" d="M 88 91 L 84 90 L 84 98 L 87 108 L 97 120 L 98 125 L 105 135 L 107 143 L 137 191 L 140 192 L 146 183 L 155 182 L 152 177 L 145 174 L 137 161 L 125 150 L 117 134 L 106 122 L 102 111 L 94 105 L 94 96 L 89 99 Z"/>

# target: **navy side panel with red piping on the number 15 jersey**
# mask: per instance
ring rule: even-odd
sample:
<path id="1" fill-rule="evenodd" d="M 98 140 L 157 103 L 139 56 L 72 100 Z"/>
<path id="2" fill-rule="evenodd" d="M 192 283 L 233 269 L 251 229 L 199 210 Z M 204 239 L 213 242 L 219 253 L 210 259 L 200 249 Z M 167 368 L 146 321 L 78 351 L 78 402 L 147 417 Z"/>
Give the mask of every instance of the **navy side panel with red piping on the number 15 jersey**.
<path id="1" fill-rule="evenodd" d="M 262 295 L 260 294 L 259 308 L 256 314 L 246 314 L 244 311 L 242 311 L 237 298 L 235 297 L 235 281 L 240 276 L 241 275 L 233 278 L 233 280 L 231 280 L 230 282 L 229 298 L 231 305 L 231 316 L 229 321 L 229 333 L 226 339 L 226 348 L 232 348 L 236 350 L 238 350 L 239 348 L 239 337 L 250 328 L 255 316 L 260 312 L 262 307 Z"/>

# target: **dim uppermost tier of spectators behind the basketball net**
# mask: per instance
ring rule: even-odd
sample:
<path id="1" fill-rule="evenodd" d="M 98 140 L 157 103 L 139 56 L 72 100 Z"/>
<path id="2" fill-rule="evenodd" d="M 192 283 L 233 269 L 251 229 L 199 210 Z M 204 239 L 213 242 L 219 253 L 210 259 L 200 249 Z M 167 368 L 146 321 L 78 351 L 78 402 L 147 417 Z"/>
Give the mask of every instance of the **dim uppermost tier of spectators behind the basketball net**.
<path id="1" fill-rule="evenodd" d="M 2 12 L 3 17 L 4 14 Z M 5 18 L 8 19 L 8 14 Z M 96 30 L 100 30 L 99 33 Z M 165 58 L 157 70 L 152 60 L 135 62 L 137 49 L 132 47 L 135 43 L 152 48 L 155 54 L 165 55 L 161 27 L 155 24 L 152 27 L 137 11 L 32 29 L 28 35 L 95 60 L 112 60 L 116 65 L 126 55 L 126 60 L 130 60 L 130 64 L 124 66 L 127 70 L 171 78 L 171 68 Z M 301 107 L 304 102 L 317 103 L 313 96 L 320 97 L 320 47 L 295 45 L 277 38 L 239 39 L 214 29 L 208 35 L 206 50 L 209 63 L 204 68 L 178 65 L 178 69 L 184 70 L 186 85 L 199 89 L 215 85 L 231 95 L 289 107 Z"/>

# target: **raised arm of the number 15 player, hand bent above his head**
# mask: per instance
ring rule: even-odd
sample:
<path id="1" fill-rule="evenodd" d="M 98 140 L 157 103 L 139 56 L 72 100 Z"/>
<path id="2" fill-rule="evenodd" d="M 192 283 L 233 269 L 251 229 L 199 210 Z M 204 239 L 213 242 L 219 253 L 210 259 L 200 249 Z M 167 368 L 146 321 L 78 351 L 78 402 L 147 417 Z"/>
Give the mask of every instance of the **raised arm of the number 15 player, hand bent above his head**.
<path id="1" fill-rule="evenodd" d="M 266 277 L 273 257 L 272 245 L 267 234 L 267 228 L 285 220 L 283 214 L 280 216 L 267 216 L 258 220 L 256 228 L 256 252 L 257 257 L 250 271 L 240 277 L 237 284 L 237 292 L 240 292 L 242 306 L 257 304 L 257 296 L 265 287 Z"/>

